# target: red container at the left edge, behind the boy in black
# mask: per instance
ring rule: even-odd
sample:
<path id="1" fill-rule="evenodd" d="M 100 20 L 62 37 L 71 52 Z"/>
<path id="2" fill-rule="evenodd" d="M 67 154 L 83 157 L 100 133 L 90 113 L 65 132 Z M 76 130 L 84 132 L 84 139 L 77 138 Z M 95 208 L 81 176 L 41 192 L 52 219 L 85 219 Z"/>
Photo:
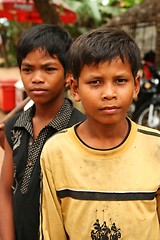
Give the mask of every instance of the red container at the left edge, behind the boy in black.
<path id="1" fill-rule="evenodd" d="M 0 110 L 10 112 L 15 108 L 15 83 L 17 80 L 0 80 Z"/>

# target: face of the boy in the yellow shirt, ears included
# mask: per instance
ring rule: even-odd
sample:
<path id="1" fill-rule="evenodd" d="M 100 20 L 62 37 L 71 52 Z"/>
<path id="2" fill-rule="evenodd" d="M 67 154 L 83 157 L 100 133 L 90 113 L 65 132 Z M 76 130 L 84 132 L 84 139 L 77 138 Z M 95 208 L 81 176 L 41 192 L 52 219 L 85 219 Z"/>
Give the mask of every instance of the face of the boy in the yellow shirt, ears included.
<path id="1" fill-rule="evenodd" d="M 98 65 L 85 65 L 78 85 L 71 82 L 76 101 L 82 101 L 88 120 L 101 124 L 118 124 L 126 118 L 129 107 L 137 97 L 139 76 L 134 79 L 130 64 L 120 58 Z"/>

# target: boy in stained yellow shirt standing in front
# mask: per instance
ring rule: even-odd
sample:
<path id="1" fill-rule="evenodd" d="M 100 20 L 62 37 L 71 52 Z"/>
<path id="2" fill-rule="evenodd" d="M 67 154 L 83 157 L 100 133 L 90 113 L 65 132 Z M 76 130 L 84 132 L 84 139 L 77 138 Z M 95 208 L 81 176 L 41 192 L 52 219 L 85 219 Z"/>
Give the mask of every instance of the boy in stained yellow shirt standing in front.
<path id="1" fill-rule="evenodd" d="M 69 61 L 87 119 L 42 150 L 42 239 L 159 240 L 160 132 L 127 117 L 138 46 L 120 29 L 97 29 L 72 44 Z"/>

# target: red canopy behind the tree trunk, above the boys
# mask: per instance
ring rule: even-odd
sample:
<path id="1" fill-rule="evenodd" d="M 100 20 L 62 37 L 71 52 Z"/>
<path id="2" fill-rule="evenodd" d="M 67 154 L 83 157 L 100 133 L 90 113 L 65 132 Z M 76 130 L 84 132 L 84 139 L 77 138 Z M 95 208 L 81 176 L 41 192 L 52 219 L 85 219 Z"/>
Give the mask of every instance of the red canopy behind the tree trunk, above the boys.
<path id="1" fill-rule="evenodd" d="M 58 3 L 61 2 L 61 3 Z M 74 23 L 77 14 L 73 12 L 63 1 L 53 3 L 63 23 Z M 18 22 L 42 23 L 33 0 L 0 0 L 0 18 L 15 20 Z"/>

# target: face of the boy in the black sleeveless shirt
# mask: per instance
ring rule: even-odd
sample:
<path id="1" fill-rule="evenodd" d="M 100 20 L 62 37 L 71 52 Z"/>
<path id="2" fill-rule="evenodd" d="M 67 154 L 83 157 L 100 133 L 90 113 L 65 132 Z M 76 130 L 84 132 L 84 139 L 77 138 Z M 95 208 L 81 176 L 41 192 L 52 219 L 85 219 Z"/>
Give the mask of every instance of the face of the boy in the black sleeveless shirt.
<path id="1" fill-rule="evenodd" d="M 30 52 L 23 59 L 21 78 L 25 90 L 37 104 L 64 101 L 64 68 L 59 59 L 40 49 Z"/>

